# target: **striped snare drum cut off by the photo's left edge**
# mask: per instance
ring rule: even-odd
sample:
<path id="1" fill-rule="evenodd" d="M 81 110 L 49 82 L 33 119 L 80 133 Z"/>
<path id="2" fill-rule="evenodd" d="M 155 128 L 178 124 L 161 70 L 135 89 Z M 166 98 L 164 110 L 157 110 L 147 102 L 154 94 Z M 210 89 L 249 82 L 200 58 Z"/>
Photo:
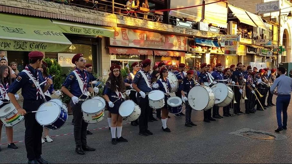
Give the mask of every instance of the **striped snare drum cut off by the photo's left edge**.
<path id="1" fill-rule="evenodd" d="M 15 126 L 23 119 L 24 116 L 22 116 L 21 114 L 17 114 L 17 110 L 12 103 L 4 105 L 0 109 L 0 120 L 6 127 Z"/>

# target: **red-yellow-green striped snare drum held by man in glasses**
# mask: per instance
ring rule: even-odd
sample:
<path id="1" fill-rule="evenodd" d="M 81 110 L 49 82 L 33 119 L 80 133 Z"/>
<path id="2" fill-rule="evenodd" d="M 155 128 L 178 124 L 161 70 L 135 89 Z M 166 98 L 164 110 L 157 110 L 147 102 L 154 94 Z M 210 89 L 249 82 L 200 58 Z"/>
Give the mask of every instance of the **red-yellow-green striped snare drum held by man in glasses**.
<path id="1" fill-rule="evenodd" d="M 104 108 L 104 103 L 99 99 L 84 101 L 81 105 L 84 121 L 91 124 L 100 122 L 105 117 Z"/>

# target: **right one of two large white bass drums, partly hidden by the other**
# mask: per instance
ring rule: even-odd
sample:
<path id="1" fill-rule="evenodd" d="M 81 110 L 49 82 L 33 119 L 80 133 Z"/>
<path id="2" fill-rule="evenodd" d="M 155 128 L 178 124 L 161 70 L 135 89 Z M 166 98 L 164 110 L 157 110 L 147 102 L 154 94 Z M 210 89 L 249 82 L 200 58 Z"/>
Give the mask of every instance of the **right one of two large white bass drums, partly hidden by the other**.
<path id="1" fill-rule="evenodd" d="M 215 105 L 225 107 L 231 103 L 234 93 L 230 87 L 224 83 L 217 83 L 211 89 L 215 92 Z"/>

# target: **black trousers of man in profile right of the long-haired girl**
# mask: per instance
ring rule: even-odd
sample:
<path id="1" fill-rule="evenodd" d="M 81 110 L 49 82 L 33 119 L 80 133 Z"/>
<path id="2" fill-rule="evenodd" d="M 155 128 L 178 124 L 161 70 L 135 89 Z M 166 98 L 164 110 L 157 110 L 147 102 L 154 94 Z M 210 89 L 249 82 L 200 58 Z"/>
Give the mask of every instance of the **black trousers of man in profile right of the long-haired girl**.
<path id="1" fill-rule="evenodd" d="M 140 94 L 137 93 L 137 102 L 141 108 L 141 115 L 139 117 L 139 132 L 146 132 L 146 130 L 148 130 L 149 113 L 152 109 L 149 106 L 148 95 L 146 95 L 145 99 L 139 96 Z"/>

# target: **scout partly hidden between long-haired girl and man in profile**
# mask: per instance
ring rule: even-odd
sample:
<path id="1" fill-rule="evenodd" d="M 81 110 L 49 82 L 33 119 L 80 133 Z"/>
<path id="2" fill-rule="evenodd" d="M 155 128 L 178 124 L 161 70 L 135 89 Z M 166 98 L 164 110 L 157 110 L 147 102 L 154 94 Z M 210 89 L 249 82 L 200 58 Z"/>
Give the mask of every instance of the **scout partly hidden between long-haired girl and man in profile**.
<path id="1" fill-rule="evenodd" d="M 135 75 L 140 70 L 139 63 L 134 62 L 131 65 L 131 67 L 133 68 L 133 71 L 129 73 L 128 78 L 126 78 L 124 82 L 125 82 L 125 86 L 128 87 L 129 89 L 131 89 L 131 93 L 129 95 L 130 99 L 133 100 L 136 104 L 138 104 L 137 99 L 136 99 L 137 92 L 134 89 L 132 89 L 132 83 L 133 83 L 133 79 L 134 79 Z M 138 126 L 139 125 L 138 119 L 136 121 L 131 121 L 131 125 Z"/>

